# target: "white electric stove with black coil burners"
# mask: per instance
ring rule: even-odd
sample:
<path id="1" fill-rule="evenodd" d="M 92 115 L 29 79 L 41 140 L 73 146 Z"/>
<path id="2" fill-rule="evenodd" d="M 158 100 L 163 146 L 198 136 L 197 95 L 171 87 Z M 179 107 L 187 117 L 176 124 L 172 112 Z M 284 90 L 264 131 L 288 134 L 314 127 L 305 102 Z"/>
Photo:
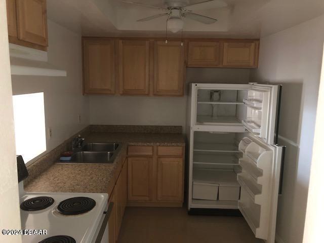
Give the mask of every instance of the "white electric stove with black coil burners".
<path id="1" fill-rule="evenodd" d="M 23 243 L 108 242 L 108 194 L 28 193 L 21 181 L 19 195 L 22 230 L 47 233 L 23 234 Z"/>

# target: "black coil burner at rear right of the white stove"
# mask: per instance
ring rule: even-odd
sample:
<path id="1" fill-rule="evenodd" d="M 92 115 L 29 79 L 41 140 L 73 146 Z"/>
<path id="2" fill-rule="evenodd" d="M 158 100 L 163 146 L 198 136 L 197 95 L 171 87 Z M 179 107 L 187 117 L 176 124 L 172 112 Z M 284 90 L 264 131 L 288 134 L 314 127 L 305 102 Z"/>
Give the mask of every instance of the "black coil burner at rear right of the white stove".
<path id="1" fill-rule="evenodd" d="M 89 197 L 72 197 L 61 201 L 57 210 L 63 215 L 83 214 L 92 210 L 96 206 L 96 201 Z"/>

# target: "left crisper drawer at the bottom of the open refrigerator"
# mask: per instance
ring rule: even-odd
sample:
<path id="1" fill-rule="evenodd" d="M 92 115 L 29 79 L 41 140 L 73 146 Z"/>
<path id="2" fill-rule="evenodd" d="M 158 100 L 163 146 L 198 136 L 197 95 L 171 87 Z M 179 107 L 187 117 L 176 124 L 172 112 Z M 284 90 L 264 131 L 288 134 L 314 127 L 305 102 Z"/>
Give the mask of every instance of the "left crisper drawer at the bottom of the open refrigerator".
<path id="1" fill-rule="evenodd" d="M 218 184 L 193 182 L 192 198 L 203 200 L 217 200 Z"/>

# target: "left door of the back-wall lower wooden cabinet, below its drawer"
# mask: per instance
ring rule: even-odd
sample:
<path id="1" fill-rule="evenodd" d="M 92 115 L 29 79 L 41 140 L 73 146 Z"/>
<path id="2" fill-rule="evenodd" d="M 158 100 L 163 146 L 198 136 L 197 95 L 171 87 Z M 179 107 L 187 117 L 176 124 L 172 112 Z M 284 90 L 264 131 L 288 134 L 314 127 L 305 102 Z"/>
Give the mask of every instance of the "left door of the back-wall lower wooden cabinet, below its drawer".
<path id="1" fill-rule="evenodd" d="M 128 200 L 147 201 L 150 199 L 150 171 L 152 158 L 129 157 L 128 159 Z"/>

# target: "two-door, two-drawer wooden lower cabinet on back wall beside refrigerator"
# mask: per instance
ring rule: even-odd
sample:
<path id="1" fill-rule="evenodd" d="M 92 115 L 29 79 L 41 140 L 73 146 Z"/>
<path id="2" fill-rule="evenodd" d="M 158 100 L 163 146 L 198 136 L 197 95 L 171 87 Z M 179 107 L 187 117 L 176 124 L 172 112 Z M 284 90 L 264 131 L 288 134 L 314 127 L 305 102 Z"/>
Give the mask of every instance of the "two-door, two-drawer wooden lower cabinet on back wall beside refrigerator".
<path id="1" fill-rule="evenodd" d="M 146 148 L 128 151 L 128 206 L 182 207 L 183 146 Z"/>

